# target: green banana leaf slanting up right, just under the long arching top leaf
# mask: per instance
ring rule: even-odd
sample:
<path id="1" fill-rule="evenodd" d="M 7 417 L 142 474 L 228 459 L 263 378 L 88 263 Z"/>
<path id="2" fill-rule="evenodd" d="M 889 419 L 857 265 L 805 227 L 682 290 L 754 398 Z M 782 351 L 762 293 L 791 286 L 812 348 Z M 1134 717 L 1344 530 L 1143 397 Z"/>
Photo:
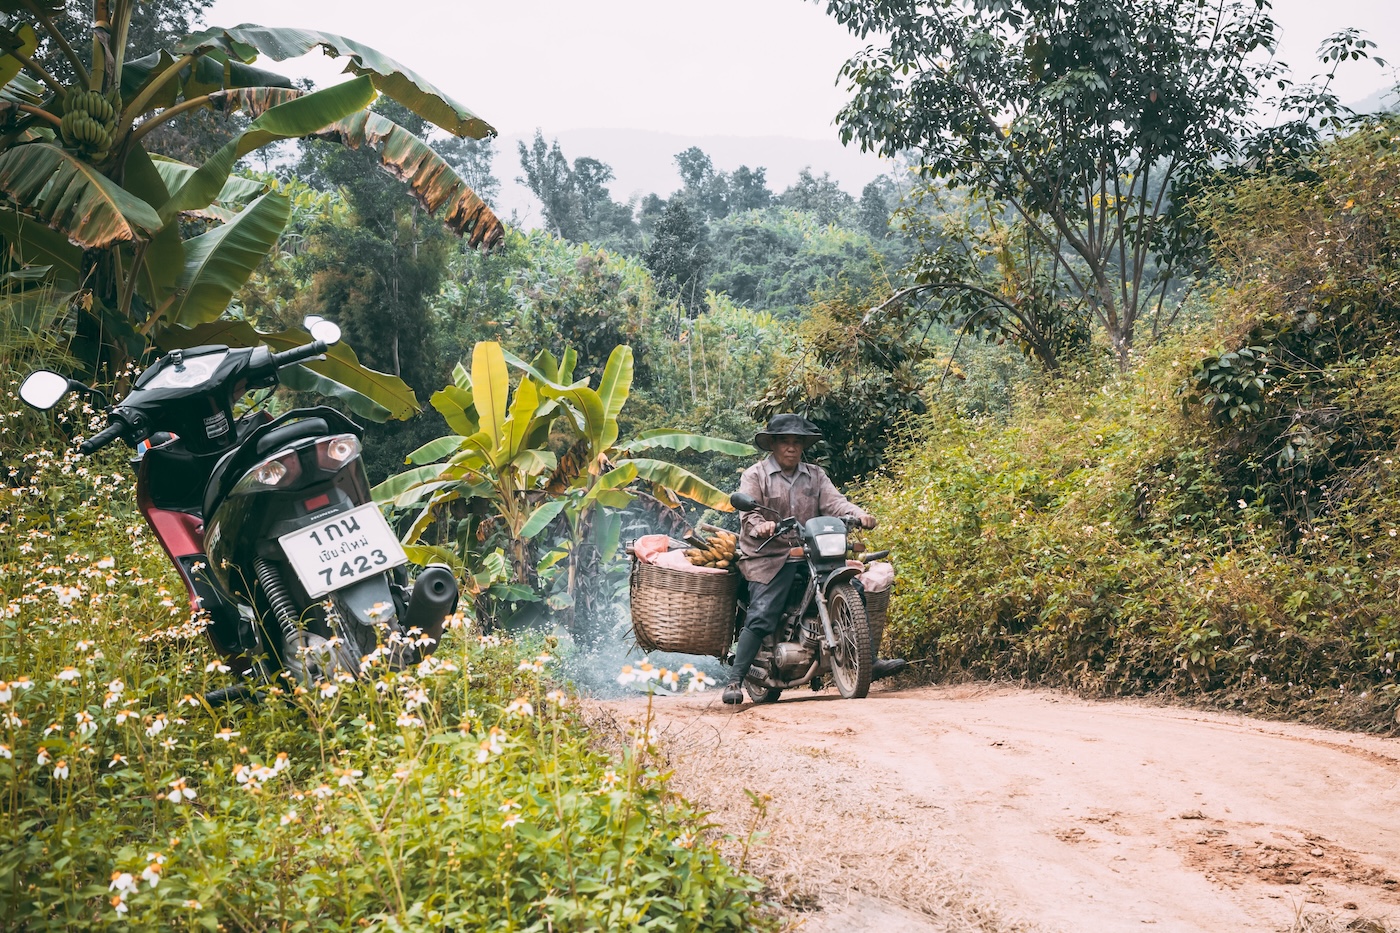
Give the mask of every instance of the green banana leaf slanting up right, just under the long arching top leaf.
<path id="1" fill-rule="evenodd" d="M 266 90 L 266 88 L 259 88 Z M 218 198 L 234 171 L 234 163 L 260 146 L 281 139 L 309 136 L 315 130 L 364 109 L 374 101 L 368 78 L 353 78 L 315 94 L 294 97 L 265 111 L 248 129 L 228 140 L 200 165 L 161 206 L 161 219 L 207 207 Z"/>

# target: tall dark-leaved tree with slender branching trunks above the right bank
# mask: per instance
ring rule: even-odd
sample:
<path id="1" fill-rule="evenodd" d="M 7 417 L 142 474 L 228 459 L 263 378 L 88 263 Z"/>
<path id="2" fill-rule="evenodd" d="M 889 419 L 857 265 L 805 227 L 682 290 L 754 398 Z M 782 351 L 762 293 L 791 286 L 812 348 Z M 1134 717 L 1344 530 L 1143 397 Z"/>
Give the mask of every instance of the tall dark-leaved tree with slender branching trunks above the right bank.
<path id="1" fill-rule="evenodd" d="M 1284 67 L 1267 0 L 827 0 L 872 45 L 841 70 L 841 137 L 920 158 L 931 179 L 1019 214 L 1121 366 L 1190 258 L 1173 193 L 1260 139 L 1256 102 Z M 1354 32 L 1333 62 L 1365 55 Z M 1285 88 L 1288 90 L 1288 88 Z M 1336 111 L 1291 88 L 1288 132 Z M 1294 118 L 1288 120 L 1287 118 Z M 1274 134 L 1277 137 L 1277 134 Z M 938 279 L 938 276 L 934 276 Z M 930 282 L 934 287 L 938 282 Z"/>

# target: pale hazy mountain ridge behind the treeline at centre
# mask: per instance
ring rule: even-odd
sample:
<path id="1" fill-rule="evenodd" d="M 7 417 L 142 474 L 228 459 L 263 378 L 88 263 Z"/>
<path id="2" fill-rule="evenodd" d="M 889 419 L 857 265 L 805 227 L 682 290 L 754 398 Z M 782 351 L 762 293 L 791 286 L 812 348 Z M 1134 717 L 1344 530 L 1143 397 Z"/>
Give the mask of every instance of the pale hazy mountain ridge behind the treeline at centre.
<path id="1" fill-rule="evenodd" d="M 501 181 L 501 193 L 493 207 L 501 217 L 515 214 L 522 227 L 538 227 L 542 221 L 539 200 L 515 178 L 521 171 L 518 144 L 529 144 L 535 133 L 512 133 L 498 137 L 493 174 Z M 657 193 L 669 196 L 680 188 L 675 156 L 699 146 L 714 161 L 715 171 L 734 171 L 739 165 L 767 170 L 769 188 L 781 193 L 797 181 L 798 172 L 811 167 L 832 178 L 854 198 L 878 175 L 895 168 L 895 163 L 857 146 L 841 146 L 832 129 L 832 139 L 811 140 L 788 136 L 682 136 L 638 129 L 575 129 L 552 133 L 545 140 L 559 139 L 564 156 L 573 163 L 588 156 L 612 167 L 616 181 L 609 185 L 615 200 L 641 199 Z"/>

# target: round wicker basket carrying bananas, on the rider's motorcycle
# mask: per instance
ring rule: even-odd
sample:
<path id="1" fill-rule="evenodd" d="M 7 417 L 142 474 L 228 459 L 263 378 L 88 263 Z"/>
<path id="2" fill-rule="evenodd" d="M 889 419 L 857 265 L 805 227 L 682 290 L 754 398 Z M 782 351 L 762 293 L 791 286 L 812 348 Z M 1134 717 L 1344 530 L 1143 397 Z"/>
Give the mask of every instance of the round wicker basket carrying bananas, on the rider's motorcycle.
<path id="1" fill-rule="evenodd" d="M 631 630 L 644 651 L 722 657 L 734 642 L 736 573 L 686 573 L 633 560 Z"/>

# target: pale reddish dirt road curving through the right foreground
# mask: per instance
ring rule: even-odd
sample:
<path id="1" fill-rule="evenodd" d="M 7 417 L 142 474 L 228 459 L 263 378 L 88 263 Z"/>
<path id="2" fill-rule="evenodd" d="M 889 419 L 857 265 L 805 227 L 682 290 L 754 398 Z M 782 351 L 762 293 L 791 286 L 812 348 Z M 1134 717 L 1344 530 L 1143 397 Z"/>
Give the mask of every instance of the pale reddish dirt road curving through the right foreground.
<path id="1" fill-rule="evenodd" d="M 1400 929 L 1396 740 L 987 686 L 654 709 L 804 930 Z"/>

